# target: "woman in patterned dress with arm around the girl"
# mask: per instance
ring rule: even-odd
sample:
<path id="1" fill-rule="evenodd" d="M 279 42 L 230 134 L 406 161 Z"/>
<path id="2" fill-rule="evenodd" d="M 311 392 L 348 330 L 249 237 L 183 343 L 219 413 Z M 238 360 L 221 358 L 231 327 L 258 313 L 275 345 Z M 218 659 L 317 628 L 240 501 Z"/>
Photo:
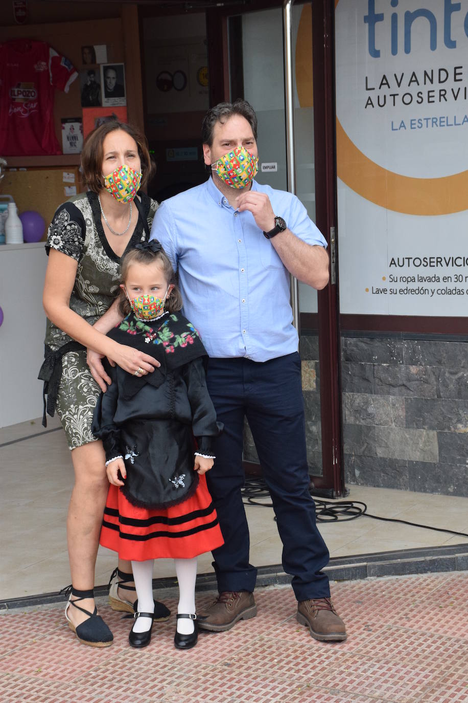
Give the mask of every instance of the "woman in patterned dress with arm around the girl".
<path id="1" fill-rule="evenodd" d="M 107 383 L 110 378 L 103 373 L 100 359 L 107 356 L 138 376 L 152 373 L 159 363 L 102 334 L 100 318 L 112 306 L 105 332 L 109 319 L 114 324 L 120 321 L 113 302 L 119 292 L 121 257 L 147 240 L 158 205 L 145 193 L 136 195 L 140 185 L 147 183 L 152 164 L 145 137 L 128 124 L 106 122 L 95 129 L 83 144 L 81 169 L 88 192 L 61 205 L 48 229 L 43 299 L 48 318 L 46 359 L 39 378 L 45 381 L 47 394 L 44 423 L 46 410 L 53 415 L 56 408 L 75 475 L 67 518 L 72 593 L 65 614 L 81 642 L 103 647 L 112 643 L 112 633 L 97 615 L 93 586 L 108 482 L 105 453 L 91 432 L 91 423 L 100 389 L 106 389 L 100 376 Z M 86 348 L 91 350 L 90 368 Z M 111 605 L 133 612 L 128 600 L 128 592 L 135 591 L 130 562 L 119 561 L 118 575 L 121 585 L 115 588 L 114 584 Z M 159 619 L 169 615 L 158 603 L 156 612 Z"/>

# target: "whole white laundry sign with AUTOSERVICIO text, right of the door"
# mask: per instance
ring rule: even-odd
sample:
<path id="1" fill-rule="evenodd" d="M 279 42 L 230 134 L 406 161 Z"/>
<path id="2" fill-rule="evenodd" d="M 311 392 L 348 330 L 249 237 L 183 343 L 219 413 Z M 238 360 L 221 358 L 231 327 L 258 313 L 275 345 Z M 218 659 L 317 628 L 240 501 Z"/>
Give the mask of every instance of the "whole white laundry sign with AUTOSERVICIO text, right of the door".
<path id="1" fill-rule="evenodd" d="M 342 313 L 466 316 L 468 0 L 338 0 Z"/>

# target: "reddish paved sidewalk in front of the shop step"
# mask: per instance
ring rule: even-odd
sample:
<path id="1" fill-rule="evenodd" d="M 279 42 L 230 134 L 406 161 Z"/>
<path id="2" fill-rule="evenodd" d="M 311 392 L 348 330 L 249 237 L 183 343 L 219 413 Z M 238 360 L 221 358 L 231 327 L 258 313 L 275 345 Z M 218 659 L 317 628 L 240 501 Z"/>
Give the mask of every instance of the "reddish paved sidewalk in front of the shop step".
<path id="1" fill-rule="evenodd" d="M 104 599 L 114 643 L 101 650 L 79 644 L 62 605 L 2 612 L 0 702 L 468 703 L 468 573 L 333 583 L 332 595 L 348 631 L 334 645 L 297 624 L 289 586 L 258 589 L 257 617 L 188 652 L 173 647 L 174 616 L 132 649 L 131 621 Z M 174 593 L 165 601 L 174 611 Z"/>

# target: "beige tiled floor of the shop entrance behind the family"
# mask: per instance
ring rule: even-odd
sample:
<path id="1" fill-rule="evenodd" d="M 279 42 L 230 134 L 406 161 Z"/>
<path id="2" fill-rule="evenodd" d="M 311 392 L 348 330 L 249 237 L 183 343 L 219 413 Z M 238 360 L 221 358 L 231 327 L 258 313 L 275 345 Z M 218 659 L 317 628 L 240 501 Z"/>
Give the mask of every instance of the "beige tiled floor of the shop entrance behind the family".
<path id="1" fill-rule="evenodd" d="M 57 418 L 48 422 L 48 430 L 55 427 L 59 427 Z M 65 517 L 72 463 L 62 431 L 41 432 L 44 428 L 39 420 L 0 429 L 0 599 L 58 591 L 69 583 Z M 363 486 L 349 489 L 347 500 L 363 501 L 371 514 L 468 533 L 466 498 Z M 272 508 L 248 506 L 247 515 L 251 562 L 256 566 L 279 564 L 281 542 Z M 321 523 L 319 529 L 333 557 L 468 541 L 370 517 Z M 100 548 L 96 585 L 107 583 L 114 565 L 114 553 Z M 199 573 L 208 572 L 212 572 L 211 556 L 206 554 L 199 557 Z M 172 560 L 156 562 L 154 576 L 174 576 Z"/>

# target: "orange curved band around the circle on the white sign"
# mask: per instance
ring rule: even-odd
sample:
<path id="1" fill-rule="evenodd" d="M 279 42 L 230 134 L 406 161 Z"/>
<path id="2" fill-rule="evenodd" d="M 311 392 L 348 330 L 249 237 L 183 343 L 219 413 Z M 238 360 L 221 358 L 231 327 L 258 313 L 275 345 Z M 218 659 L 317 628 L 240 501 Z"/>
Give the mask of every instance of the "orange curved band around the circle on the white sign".
<path id="1" fill-rule="evenodd" d="M 335 8 L 339 0 L 335 0 Z M 446 215 L 468 209 L 468 171 L 441 178 L 413 178 L 370 160 L 336 118 L 337 176 L 362 198 L 395 212 Z"/>

